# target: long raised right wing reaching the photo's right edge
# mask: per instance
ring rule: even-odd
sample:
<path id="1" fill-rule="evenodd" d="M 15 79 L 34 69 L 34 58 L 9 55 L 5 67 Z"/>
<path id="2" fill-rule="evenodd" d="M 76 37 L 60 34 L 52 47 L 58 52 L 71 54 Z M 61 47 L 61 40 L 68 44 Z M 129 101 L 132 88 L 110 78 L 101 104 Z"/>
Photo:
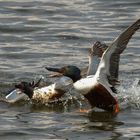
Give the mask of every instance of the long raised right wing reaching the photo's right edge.
<path id="1" fill-rule="evenodd" d="M 96 76 L 116 85 L 118 80 L 120 54 L 125 50 L 132 35 L 140 28 L 140 19 L 117 37 L 104 52 Z"/>

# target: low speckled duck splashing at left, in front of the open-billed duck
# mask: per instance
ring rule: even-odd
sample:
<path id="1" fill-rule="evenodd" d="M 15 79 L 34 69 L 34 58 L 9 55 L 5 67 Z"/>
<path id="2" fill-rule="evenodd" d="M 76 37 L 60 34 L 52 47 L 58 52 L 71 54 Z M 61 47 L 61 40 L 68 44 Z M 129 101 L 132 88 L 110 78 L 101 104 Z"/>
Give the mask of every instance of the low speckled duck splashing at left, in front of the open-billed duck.
<path id="1" fill-rule="evenodd" d="M 62 97 L 73 85 L 72 79 L 66 76 L 63 76 L 53 84 L 44 87 L 39 87 L 40 81 L 41 79 L 37 83 L 22 81 L 15 85 L 14 90 L 6 96 L 6 101 L 9 103 L 15 103 L 22 99 L 31 99 L 34 102 L 45 104 Z"/>

